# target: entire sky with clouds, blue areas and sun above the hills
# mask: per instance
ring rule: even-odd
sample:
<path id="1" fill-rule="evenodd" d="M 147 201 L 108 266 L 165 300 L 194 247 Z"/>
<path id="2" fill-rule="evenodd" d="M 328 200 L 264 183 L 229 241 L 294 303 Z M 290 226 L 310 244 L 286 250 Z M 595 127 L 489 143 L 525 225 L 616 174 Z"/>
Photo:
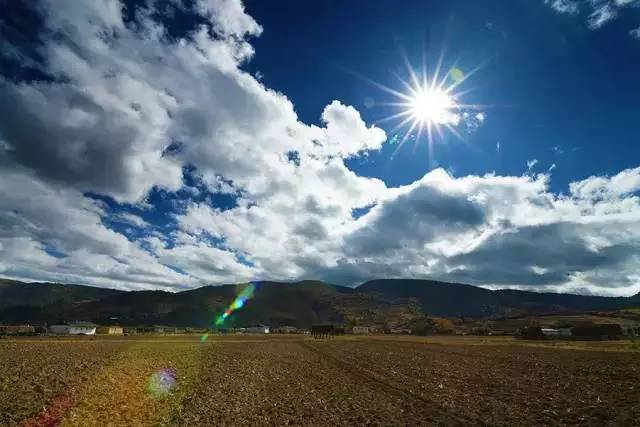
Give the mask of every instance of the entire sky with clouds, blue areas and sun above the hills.
<path id="1" fill-rule="evenodd" d="M 640 292 L 640 1 L 0 0 L 0 276 Z"/>

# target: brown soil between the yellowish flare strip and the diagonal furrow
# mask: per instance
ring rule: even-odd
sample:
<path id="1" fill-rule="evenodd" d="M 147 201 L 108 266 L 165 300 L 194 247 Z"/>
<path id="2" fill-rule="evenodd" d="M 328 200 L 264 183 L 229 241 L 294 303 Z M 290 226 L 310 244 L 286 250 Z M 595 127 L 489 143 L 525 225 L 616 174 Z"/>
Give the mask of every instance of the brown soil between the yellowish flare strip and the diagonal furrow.
<path id="1" fill-rule="evenodd" d="M 459 416 L 308 340 L 207 344 L 181 425 L 463 425 Z"/>

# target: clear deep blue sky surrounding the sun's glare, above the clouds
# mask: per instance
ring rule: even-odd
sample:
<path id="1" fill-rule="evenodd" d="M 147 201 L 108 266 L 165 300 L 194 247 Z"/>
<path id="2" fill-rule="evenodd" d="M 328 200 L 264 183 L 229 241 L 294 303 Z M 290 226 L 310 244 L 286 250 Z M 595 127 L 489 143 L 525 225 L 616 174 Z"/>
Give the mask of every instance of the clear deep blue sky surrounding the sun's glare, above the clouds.
<path id="1" fill-rule="evenodd" d="M 394 73 L 406 76 L 403 51 L 418 68 L 423 52 L 435 62 L 444 50 L 445 64 L 481 67 L 465 85 L 474 90 L 465 101 L 490 108 L 468 145 L 448 135 L 437 146 L 442 167 L 456 175 L 521 174 L 527 160 L 538 159 L 537 171 L 556 164 L 551 186 L 566 192 L 573 180 L 637 166 L 640 43 L 628 33 L 640 9 L 598 31 L 531 1 L 255 1 L 247 11 L 265 27 L 247 68 L 287 94 L 307 123 L 319 122 L 333 99 L 358 108 L 366 122 L 384 117 L 387 111 L 365 100 L 390 96 L 345 70 L 402 90 Z M 390 162 L 393 150 L 349 165 L 391 185 L 429 170 L 424 144 Z"/>

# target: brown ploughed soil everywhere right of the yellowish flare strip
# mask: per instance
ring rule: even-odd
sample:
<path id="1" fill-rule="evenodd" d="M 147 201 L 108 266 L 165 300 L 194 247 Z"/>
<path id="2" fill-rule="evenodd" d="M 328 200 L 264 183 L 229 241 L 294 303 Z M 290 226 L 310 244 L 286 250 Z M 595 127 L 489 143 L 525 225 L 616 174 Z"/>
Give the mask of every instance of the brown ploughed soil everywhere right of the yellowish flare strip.
<path id="1" fill-rule="evenodd" d="M 368 339 L 215 345 L 185 425 L 640 423 L 633 352 Z"/>

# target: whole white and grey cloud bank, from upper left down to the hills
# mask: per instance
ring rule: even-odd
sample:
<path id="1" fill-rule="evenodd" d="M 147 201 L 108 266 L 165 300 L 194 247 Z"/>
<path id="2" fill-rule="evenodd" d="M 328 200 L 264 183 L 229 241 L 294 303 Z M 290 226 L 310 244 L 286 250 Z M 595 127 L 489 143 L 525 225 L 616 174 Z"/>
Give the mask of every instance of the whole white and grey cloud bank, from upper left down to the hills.
<path id="1" fill-rule="evenodd" d="M 340 100 L 318 112 L 321 126 L 305 124 L 243 70 L 262 28 L 239 1 L 34 7 L 35 50 L 3 49 L 22 70 L 0 77 L 5 277 L 125 289 L 429 277 L 640 291 L 640 168 L 574 182 L 568 194 L 551 193 L 544 174 L 441 169 L 388 187 L 345 165 L 379 150 L 382 129 Z M 193 25 L 176 35 L 181 13 Z"/>

